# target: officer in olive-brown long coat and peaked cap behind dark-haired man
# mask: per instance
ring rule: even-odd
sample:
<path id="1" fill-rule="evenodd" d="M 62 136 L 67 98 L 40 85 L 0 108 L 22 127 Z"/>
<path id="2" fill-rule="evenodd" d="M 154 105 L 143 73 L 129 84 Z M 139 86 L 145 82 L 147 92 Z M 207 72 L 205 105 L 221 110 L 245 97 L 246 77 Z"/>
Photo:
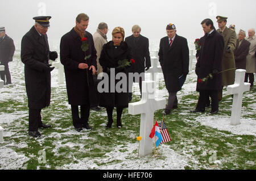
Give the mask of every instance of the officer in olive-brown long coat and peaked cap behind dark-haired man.
<path id="1" fill-rule="evenodd" d="M 232 85 L 234 83 L 236 64 L 234 60 L 234 49 L 236 49 L 237 36 L 236 32 L 230 30 L 230 28 L 226 27 L 226 23 L 228 18 L 224 16 L 217 16 L 217 23 L 219 29 L 217 30 L 224 37 L 224 56 L 222 60 L 222 71 L 233 69 L 229 71 L 225 71 L 222 73 L 222 88 L 218 94 L 218 100 L 222 100 L 222 90 L 223 86 Z"/>

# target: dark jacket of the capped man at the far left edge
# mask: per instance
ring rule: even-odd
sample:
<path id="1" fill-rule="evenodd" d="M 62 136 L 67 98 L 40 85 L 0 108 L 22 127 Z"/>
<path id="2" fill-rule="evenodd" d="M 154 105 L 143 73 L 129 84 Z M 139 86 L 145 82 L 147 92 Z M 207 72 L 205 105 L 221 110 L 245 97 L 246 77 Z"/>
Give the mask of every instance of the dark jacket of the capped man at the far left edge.
<path id="1" fill-rule="evenodd" d="M 13 39 L 8 35 L 5 35 L 5 38 L 0 38 L 0 62 L 6 63 L 13 61 L 13 55 L 15 51 L 15 46 Z"/>

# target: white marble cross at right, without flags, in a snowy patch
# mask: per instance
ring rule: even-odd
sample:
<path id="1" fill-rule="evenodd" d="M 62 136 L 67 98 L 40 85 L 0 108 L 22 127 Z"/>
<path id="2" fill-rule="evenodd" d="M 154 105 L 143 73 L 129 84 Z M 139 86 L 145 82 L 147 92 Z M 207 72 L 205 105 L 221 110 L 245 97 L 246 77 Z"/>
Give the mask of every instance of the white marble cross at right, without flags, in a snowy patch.
<path id="1" fill-rule="evenodd" d="M 242 108 L 242 98 L 243 92 L 250 90 L 250 83 L 245 81 L 246 70 L 237 69 L 235 83 L 228 86 L 228 94 L 233 94 L 233 104 L 231 113 L 231 125 L 241 124 L 241 108 Z"/>

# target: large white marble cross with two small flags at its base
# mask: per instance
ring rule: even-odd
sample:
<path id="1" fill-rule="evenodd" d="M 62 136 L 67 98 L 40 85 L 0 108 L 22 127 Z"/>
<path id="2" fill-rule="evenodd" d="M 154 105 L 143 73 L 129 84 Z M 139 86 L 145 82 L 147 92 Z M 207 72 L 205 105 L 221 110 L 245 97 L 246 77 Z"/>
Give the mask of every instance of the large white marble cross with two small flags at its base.
<path id="1" fill-rule="evenodd" d="M 129 104 L 129 114 L 141 114 L 139 157 L 152 153 L 152 139 L 149 136 L 154 126 L 154 112 L 166 107 L 166 99 L 155 99 L 154 84 L 155 81 L 143 81 L 141 101 Z"/>

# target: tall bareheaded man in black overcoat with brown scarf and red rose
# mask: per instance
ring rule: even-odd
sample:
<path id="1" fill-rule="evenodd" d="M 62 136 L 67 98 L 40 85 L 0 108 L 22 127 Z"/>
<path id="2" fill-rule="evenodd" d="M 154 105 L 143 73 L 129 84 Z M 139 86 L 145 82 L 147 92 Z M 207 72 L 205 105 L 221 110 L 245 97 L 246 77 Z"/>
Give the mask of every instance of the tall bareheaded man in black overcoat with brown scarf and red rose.
<path id="1" fill-rule="evenodd" d="M 82 131 L 82 127 L 92 129 L 88 124 L 90 99 L 92 97 L 96 99 L 93 74 L 96 74 L 97 52 L 92 34 L 85 31 L 88 23 L 88 15 L 79 14 L 76 18 L 76 26 L 61 37 L 60 41 L 60 61 L 65 70 L 68 103 L 71 104 L 73 125 L 78 132 Z M 86 52 L 81 49 L 82 38 L 88 44 L 89 49 Z M 90 57 L 85 60 L 85 56 Z"/>

